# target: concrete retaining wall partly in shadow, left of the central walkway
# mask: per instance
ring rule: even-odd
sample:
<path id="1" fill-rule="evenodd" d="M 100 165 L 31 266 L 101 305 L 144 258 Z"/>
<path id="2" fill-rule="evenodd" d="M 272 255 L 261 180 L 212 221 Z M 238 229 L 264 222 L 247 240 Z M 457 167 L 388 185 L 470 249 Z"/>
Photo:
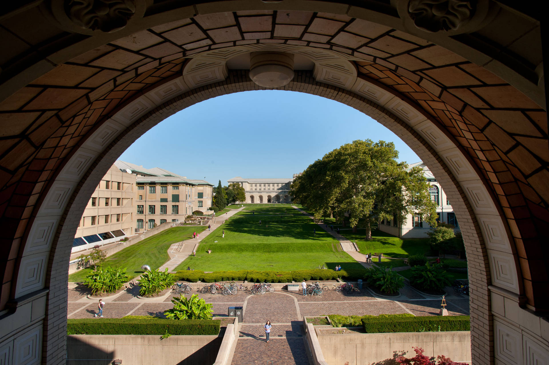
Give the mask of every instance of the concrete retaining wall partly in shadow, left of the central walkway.
<path id="1" fill-rule="evenodd" d="M 231 328 L 229 337 L 234 334 Z M 223 337 L 217 335 L 69 335 L 67 365 L 108 365 L 115 359 L 131 365 L 211 365 Z"/>

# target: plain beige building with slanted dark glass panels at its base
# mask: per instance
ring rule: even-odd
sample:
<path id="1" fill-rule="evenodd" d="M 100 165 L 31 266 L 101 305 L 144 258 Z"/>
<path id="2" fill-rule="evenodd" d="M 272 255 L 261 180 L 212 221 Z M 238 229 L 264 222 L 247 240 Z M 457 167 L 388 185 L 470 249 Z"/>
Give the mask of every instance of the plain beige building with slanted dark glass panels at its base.
<path id="1" fill-rule="evenodd" d="M 115 165 L 109 169 L 89 198 L 71 252 L 119 241 L 134 234 L 136 177 Z"/>

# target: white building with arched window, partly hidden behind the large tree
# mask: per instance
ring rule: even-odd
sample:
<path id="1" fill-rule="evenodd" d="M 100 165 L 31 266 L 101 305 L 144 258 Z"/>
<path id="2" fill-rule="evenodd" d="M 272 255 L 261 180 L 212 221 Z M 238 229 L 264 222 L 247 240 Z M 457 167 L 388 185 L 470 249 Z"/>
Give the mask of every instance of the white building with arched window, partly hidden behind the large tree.
<path id="1" fill-rule="evenodd" d="M 431 200 L 436 203 L 436 214 L 439 218 L 437 221 L 449 223 L 454 226 L 454 231 L 460 230 L 460 225 L 457 223 L 456 214 L 453 212 L 450 204 L 450 199 L 442 190 L 439 182 L 436 181 L 435 176 L 425 165 L 424 162 L 416 162 L 408 165 L 408 170 L 413 167 L 419 166 L 423 169 L 423 176 L 429 183 L 429 193 Z M 406 217 L 406 222 L 402 224 L 401 220 L 395 215 L 391 220 L 383 220 L 378 224 L 380 231 L 390 233 L 397 237 L 405 238 L 423 238 L 428 237 L 427 232 L 431 229 L 431 226 L 424 222 L 419 214 L 410 214 Z"/>

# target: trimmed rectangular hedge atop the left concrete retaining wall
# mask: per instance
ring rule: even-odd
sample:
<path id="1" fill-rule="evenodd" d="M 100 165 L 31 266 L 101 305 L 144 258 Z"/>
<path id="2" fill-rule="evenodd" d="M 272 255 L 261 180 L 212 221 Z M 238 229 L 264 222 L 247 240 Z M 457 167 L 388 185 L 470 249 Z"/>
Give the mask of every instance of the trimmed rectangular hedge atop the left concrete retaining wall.
<path id="1" fill-rule="evenodd" d="M 216 335 L 219 320 L 166 320 L 165 318 L 79 318 L 67 320 L 67 334 Z M 154 318 L 154 319 L 153 319 Z"/>

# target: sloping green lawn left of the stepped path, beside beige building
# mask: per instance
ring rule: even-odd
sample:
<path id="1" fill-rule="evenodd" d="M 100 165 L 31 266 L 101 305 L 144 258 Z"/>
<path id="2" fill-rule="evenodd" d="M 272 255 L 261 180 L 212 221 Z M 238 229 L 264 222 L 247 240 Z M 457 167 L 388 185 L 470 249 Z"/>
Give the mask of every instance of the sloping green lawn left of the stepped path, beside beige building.
<path id="1" fill-rule="evenodd" d="M 169 260 L 170 256 L 168 255 L 167 250 L 172 243 L 193 238 L 194 231 L 200 233 L 206 228 L 208 227 L 171 227 L 109 256 L 103 263 L 103 267 L 126 267 L 131 280 L 143 272 L 141 266 L 144 264 L 147 264 L 151 269 L 156 270 Z M 83 281 L 90 272 L 92 272 L 92 269 L 84 269 L 72 273 L 69 275 L 69 282 Z"/>

